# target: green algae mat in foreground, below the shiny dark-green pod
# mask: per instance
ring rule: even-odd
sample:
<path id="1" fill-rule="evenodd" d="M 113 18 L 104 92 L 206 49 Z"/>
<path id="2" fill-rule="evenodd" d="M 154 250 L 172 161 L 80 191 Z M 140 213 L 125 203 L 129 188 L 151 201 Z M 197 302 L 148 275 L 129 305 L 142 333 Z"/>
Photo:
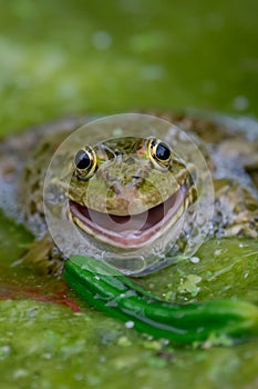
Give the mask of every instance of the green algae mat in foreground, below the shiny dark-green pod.
<path id="1" fill-rule="evenodd" d="M 257 382 L 257 342 L 173 349 L 86 309 L 0 305 L 4 388 L 244 388 Z M 121 340 L 123 338 L 124 340 Z M 130 380 L 128 380 L 130 377 Z"/>

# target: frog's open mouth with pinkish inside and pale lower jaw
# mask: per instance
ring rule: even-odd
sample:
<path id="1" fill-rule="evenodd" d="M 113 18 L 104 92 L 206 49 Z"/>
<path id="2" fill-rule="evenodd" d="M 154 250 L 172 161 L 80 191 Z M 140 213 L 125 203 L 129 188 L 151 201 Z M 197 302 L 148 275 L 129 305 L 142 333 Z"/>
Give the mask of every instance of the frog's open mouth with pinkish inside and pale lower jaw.
<path id="1" fill-rule="evenodd" d="M 73 222 L 95 239 L 123 249 L 140 249 L 172 228 L 187 208 L 187 186 L 163 203 L 132 216 L 102 213 L 70 200 Z"/>

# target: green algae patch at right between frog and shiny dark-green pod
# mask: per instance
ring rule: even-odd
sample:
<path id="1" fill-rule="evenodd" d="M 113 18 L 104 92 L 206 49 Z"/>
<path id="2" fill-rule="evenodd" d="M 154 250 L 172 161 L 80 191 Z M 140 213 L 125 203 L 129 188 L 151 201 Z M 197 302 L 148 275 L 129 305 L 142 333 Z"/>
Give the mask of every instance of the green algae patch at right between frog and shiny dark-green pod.
<path id="1" fill-rule="evenodd" d="M 138 283 L 174 302 L 238 298 L 257 303 L 257 240 L 210 239 L 199 248 L 194 261 L 183 259 Z"/>

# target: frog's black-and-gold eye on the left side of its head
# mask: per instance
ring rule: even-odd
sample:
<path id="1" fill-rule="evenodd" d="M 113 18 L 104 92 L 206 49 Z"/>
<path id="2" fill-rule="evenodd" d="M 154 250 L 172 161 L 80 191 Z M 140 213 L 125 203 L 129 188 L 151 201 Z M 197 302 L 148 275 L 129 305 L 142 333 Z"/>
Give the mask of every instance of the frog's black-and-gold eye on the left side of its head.
<path id="1" fill-rule="evenodd" d="M 74 164 L 76 176 L 82 180 L 89 179 L 96 170 L 95 151 L 91 147 L 85 146 L 75 154 Z"/>

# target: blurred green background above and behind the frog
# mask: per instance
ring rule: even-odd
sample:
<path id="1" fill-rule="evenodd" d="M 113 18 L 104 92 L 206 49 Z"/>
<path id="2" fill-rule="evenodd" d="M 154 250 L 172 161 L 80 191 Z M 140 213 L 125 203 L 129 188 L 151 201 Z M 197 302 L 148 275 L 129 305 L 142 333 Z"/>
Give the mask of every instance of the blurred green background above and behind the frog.
<path id="1" fill-rule="evenodd" d="M 256 0 L 0 0 L 0 134 L 60 117 L 258 113 Z"/>

